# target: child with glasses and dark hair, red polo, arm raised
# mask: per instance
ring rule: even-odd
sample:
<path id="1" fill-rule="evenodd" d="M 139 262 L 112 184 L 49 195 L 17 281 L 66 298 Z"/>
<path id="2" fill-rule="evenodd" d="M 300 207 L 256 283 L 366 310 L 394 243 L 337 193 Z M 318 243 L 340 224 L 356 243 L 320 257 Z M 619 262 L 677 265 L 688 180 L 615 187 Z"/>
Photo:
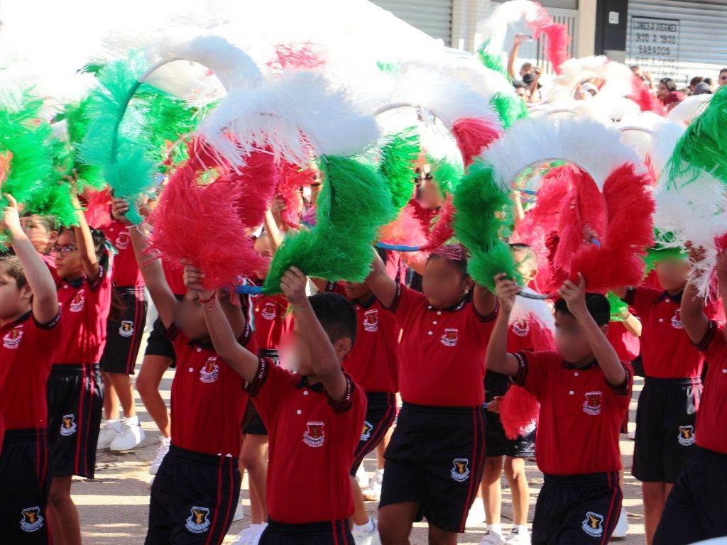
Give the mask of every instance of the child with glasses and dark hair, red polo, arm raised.
<path id="1" fill-rule="evenodd" d="M 60 347 L 48 379 L 48 441 L 53 481 L 49 514 L 60 543 L 81 543 L 71 499 L 73 475 L 92 479 L 103 409 L 99 361 L 111 312 L 111 259 L 106 238 L 92 230 L 73 193 L 78 226 L 63 229 L 53 248 L 58 302 L 63 312 Z"/>

